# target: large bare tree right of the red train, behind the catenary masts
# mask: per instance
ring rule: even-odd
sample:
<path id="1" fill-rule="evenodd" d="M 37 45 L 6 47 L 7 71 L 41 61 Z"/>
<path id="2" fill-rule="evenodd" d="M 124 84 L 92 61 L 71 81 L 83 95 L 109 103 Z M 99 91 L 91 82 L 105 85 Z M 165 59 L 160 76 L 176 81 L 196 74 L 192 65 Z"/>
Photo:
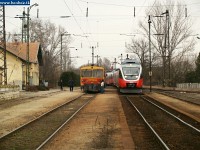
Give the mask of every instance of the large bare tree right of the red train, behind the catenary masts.
<path id="1" fill-rule="evenodd" d="M 162 60 L 163 85 L 171 76 L 171 63 L 177 56 L 185 55 L 194 49 L 192 39 L 191 19 L 185 16 L 185 5 L 172 1 L 160 3 L 156 1 L 151 9 L 147 10 L 151 16 L 151 44 Z M 156 17 L 155 17 L 156 16 Z M 142 33 L 148 38 L 148 23 L 140 22 Z M 186 42 L 187 41 L 187 42 Z M 179 49 L 181 47 L 181 49 Z M 168 66 L 168 67 L 167 67 Z M 168 77 L 166 74 L 168 72 Z"/>

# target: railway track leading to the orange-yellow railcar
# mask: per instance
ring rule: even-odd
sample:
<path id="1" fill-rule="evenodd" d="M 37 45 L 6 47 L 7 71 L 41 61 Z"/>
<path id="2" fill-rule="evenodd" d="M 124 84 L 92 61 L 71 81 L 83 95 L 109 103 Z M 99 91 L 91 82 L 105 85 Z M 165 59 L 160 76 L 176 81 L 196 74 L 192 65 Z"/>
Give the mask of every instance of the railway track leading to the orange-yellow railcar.
<path id="1" fill-rule="evenodd" d="M 40 149 L 96 95 L 82 95 L 0 137 L 0 149 Z"/>

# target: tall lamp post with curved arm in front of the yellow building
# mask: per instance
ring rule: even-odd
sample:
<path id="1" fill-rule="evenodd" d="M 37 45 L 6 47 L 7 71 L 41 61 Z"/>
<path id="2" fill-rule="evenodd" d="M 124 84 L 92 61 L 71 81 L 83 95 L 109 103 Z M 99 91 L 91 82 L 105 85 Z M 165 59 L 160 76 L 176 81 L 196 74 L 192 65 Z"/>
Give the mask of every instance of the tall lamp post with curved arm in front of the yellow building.
<path id="1" fill-rule="evenodd" d="M 26 54 L 26 85 L 30 84 L 30 68 L 29 68 L 29 51 L 30 51 L 30 46 L 29 46 L 29 19 L 30 19 L 30 10 L 33 6 L 39 6 L 37 3 L 29 6 L 27 8 L 27 54 Z"/>

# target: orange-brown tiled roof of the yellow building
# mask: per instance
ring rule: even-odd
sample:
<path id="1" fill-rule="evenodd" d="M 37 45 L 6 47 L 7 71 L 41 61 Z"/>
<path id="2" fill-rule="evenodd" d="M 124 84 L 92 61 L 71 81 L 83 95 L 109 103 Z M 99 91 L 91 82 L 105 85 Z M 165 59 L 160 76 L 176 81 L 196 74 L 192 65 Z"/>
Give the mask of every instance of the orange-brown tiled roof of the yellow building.
<path id="1" fill-rule="evenodd" d="M 22 60 L 27 60 L 27 43 L 13 42 L 6 43 L 6 49 L 13 55 L 21 58 Z M 38 54 L 41 53 L 40 43 L 30 43 L 29 44 L 29 62 L 38 63 Z"/>

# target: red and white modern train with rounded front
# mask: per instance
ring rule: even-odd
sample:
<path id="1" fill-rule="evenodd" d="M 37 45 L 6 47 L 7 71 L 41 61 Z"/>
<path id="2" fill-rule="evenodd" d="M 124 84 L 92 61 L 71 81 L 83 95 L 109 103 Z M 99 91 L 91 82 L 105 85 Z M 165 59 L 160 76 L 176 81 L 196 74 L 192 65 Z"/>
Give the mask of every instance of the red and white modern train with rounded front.
<path id="1" fill-rule="evenodd" d="M 120 93 L 142 93 L 143 76 L 141 63 L 126 59 L 113 71 L 113 84 Z"/>

